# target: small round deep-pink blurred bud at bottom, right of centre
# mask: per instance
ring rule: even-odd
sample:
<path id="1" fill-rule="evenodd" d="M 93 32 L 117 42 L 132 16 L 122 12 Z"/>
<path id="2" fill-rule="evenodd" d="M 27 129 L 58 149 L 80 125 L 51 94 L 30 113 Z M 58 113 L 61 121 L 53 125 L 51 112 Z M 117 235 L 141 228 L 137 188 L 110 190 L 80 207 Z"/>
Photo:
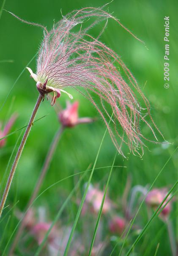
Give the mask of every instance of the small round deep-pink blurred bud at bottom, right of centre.
<path id="1" fill-rule="evenodd" d="M 119 217 L 114 216 L 110 222 L 110 231 L 111 233 L 121 235 L 126 227 L 126 221 Z"/>

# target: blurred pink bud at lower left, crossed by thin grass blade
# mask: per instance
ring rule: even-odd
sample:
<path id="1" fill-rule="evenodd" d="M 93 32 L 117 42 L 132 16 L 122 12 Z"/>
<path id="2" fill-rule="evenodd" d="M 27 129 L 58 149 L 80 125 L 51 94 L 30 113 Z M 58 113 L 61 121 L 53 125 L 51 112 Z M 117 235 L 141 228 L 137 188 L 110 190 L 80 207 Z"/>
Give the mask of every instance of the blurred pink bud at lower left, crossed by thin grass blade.
<path id="1" fill-rule="evenodd" d="M 45 223 L 45 222 L 40 222 L 37 223 L 33 229 L 32 229 L 32 233 L 35 235 L 38 244 L 40 245 L 41 242 L 43 241 L 47 231 L 49 230 L 51 224 L 50 223 Z M 51 232 L 49 233 L 48 236 L 48 241 L 49 242 L 53 242 L 53 240 L 55 239 L 55 227 L 52 228 Z"/>

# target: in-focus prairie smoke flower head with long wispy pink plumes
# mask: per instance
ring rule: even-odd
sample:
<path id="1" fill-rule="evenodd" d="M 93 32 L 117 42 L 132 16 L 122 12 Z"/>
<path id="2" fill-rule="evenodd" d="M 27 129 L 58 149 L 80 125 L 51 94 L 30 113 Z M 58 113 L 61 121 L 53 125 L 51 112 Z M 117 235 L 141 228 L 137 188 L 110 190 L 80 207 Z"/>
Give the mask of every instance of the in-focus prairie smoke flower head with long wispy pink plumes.
<path id="1" fill-rule="evenodd" d="M 123 27 L 118 19 L 103 8 L 71 11 L 54 24 L 49 32 L 36 24 L 44 28 L 44 39 L 38 52 L 36 74 L 30 68 L 27 69 L 43 98 L 50 92 L 54 93 L 51 105 L 55 104 L 61 92 L 68 94 L 64 88 L 80 91 L 100 113 L 120 154 L 123 155 L 122 143 L 126 143 L 131 152 L 142 156 L 142 139 L 147 139 L 140 132 L 140 122 L 151 129 L 155 138 L 151 124 L 161 132 L 154 124 L 149 102 L 134 76 L 120 57 L 99 41 L 108 19 L 114 19 Z M 89 30 L 102 21 L 105 21 L 105 25 L 94 38 Z M 72 98 L 71 94 L 68 96 Z M 139 101 L 142 101 L 143 106 Z M 110 119 L 112 122 L 109 127 Z"/>

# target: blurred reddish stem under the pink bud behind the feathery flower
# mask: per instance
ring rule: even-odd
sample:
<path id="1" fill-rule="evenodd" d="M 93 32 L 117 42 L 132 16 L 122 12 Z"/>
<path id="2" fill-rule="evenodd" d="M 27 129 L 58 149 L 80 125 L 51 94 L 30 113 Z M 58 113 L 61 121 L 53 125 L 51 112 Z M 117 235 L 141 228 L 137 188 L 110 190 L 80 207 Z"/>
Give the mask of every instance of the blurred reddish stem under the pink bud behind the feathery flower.
<path id="1" fill-rule="evenodd" d="M 45 161 L 44 161 L 43 168 L 41 169 L 41 173 L 40 173 L 40 176 L 39 176 L 39 178 L 38 178 L 38 181 L 36 182 L 36 186 L 35 186 L 35 188 L 34 188 L 34 190 L 33 190 L 33 194 L 31 195 L 30 200 L 29 200 L 29 202 L 28 202 L 28 204 L 27 204 L 26 213 L 25 213 L 25 215 L 23 215 L 21 225 L 19 226 L 19 229 L 18 229 L 18 232 L 17 232 L 17 234 L 16 234 L 16 237 L 14 238 L 14 242 L 13 242 L 13 244 L 12 244 L 12 246 L 11 246 L 11 250 L 10 250 L 10 252 L 9 252 L 9 256 L 11 256 L 12 253 L 14 252 L 14 249 L 15 249 L 15 247 L 16 247 L 16 244 L 17 244 L 17 242 L 18 242 L 19 239 L 20 239 L 20 236 L 21 236 L 21 234 L 22 234 L 22 231 L 23 231 L 23 229 L 24 229 L 24 227 L 25 227 L 25 218 L 26 218 L 27 215 L 28 215 L 30 206 L 31 206 L 31 204 L 33 203 L 34 199 L 36 198 L 36 196 L 37 196 L 37 194 L 38 194 L 38 191 L 39 191 L 39 189 L 40 189 L 40 187 L 41 187 L 41 184 L 43 183 L 44 177 L 45 177 L 45 175 L 46 175 L 46 173 L 47 173 L 47 171 L 48 171 L 48 169 L 49 169 L 50 162 L 51 162 L 51 160 L 52 160 L 52 157 L 53 157 L 53 154 L 54 154 L 54 152 L 55 152 L 55 149 L 56 149 L 56 147 L 57 147 L 57 145 L 58 145 L 58 141 L 59 141 L 59 139 L 60 139 L 60 137 L 61 137 L 61 134 L 62 134 L 62 132 L 63 132 L 63 129 L 64 129 L 63 127 L 61 127 L 60 129 L 58 129 L 58 131 L 56 132 L 56 134 L 55 134 L 55 136 L 54 136 L 54 138 L 53 138 L 53 140 L 52 140 L 52 143 L 51 143 L 51 145 L 50 145 L 50 147 L 49 147 L 47 156 L 46 156 Z"/>

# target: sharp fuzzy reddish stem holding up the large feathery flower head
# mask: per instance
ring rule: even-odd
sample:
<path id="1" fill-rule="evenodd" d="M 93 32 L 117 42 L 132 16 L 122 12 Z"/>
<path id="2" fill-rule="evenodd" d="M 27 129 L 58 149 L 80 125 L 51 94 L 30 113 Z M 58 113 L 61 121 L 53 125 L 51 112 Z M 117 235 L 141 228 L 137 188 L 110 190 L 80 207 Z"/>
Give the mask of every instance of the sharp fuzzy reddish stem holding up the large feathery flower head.
<path id="1" fill-rule="evenodd" d="M 17 164 L 18 164 L 18 162 L 19 162 L 19 159 L 20 159 L 20 156 L 21 156 L 21 154 L 22 154 L 24 145 L 25 145 L 26 140 L 27 140 L 27 137 L 28 137 L 28 135 L 29 135 L 29 133 L 30 133 L 30 129 L 31 129 L 32 125 L 33 125 L 34 118 L 35 118 L 35 116 L 36 116 L 36 113 L 37 113 L 37 111 L 38 111 L 38 108 L 39 108 L 39 106 L 40 106 L 40 103 L 41 103 L 42 99 L 43 99 L 42 96 L 39 95 L 39 96 L 38 96 L 38 99 L 37 99 L 37 102 L 36 102 L 36 105 L 35 105 L 35 108 L 34 108 L 34 110 L 33 110 L 33 113 L 32 113 L 32 115 L 31 115 L 30 121 L 29 121 L 29 123 L 28 123 L 27 129 L 26 129 L 26 131 L 25 131 L 25 133 L 24 133 L 24 136 L 23 136 L 22 141 L 21 141 L 21 143 L 20 143 L 19 149 L 18 149 L 18 151 L 17 151 L 17 154 L 16 154 L 16 157 L 15 157 L 14 163 L 13 163 L 12 168 L 11 168 L 11 172 L 10 172 L 10 174 L 9 174 L 9 176 L 8 176 L 8 181 L 7 181 L 7 184 L 6 184 L 6 186 L 5 186 L 5 190 L 4 190 L 4 193 L 3 193 L 2 200 L 1 200 L 1 202 L 0 202 L 0 217 L 1 217 L 2 212 L 3 212 L 3 208 L 4 208 L 4 205 L 5 205 L 5 201 L 6 201 L 6 199 L 7 199 L 8 192 L 9 192 L 9 189 L 10 189 L 10 187 L 11 187 L 12 179 L 13 179 L 14 173 L 15 173 L 15 171 L 16 171 Z"/>

